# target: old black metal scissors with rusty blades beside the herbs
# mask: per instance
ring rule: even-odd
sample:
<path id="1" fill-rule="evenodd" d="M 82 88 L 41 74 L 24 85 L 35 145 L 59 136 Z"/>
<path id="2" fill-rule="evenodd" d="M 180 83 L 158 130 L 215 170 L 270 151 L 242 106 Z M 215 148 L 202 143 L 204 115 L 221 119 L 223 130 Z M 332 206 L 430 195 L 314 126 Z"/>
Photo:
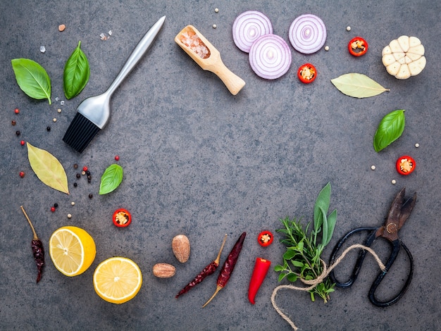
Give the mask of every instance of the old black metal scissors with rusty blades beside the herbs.
<path id="1" fill-rule="evenodd" d="M 370 247 L 371 244 L 378 237 L 382 237 L 384 239 L 387 239 L 390 242 L 390 244 L 392 245 L 392 252 L 390 253 L 389 258 L 387 259 L 387 262 L 385 263 L 386 268 L 384 271 L 381 271 L 378 274 L 377 278 L 375 279 L 375 281 L 373 282 L 373 284 L 371 286 L 371 289 L 369 289 L 369 294 L 368 294 L 369 300 L 375 306 L 378 306 L 378 307 L 390 306 L 392 304 L 395 304 L 399 299 L 401 299 L 402 296 L 404 295 L 404 293 L 406 292 L 407 288 L 409 287 L 411 280 L 412 280 L 412 275 L 414 273 L 414 258 L 412 257 L 412 254 L 409 251 L 409 249 L 406 247 L 406 245 L 404 245 L 404 243 L 401 242 L 401 240 L 399 240 L 398 230 L 401 229 L 404 222 L 407 220 L 407 218 L 409 218 L 411 211 L 415 206 L 416 193 L 414 194 L 414 196 L 412 196 L 409 199 L 404 199 L 404 194 L 405 194 L 405 189 L 403 188 L 397 194 L 397 196 L 395 196 L 395 199 L 392 202 L 392 205 L 390 206 L 390 210 L 387 215 L 387 219 L 386 219 L 385 224 L 383 226 L 381 226 L 381 227 L 359 227 L 359 228 L 356 228 L 352 231 L 349 231 L 346 235 L 344 235 L 344 237 L 342 237 L 342 239 L 340 239 L 339 242 L 337 242 L 337 244 L 334 247 L 333 253 L 331 254 L 331 257 L 330 257 L 330 265 L 331 265 L 334 263 L 335 258 L 337 256 L 337 252 L 340 250 L 340 248 L 342 247 L 344 242 L 346 242 L 346 240 L 349 237 L 351 237 L 352 235 L 354 235 L 358 232 L 363 232 L 363 231 L 370 232 L 366 241 L 364 242 L 364 245 L 368 246 L 368 247 Z M 387 274 L 387 271 L 390 269 L 392 264 L 395 262 L 395 258 L 397 258 L 401 247 L 404 249 L 407 256 L 409 256 L 409 260 L 410 260 L 410 270 L 409 270 L 409 275 L 407 276 L 407 279 L 406 279 L 406 283 L 404 284 L 404 287 L 401 289 L 401 291 L 394 298 L 392 298 L 388 301 L 378 301 L 375 298 L 375 291 L 376 291 L 377 287 L 380 285 L 380 283 L 383 280 L 383 278 L 385 277 L 385 275 Z M 333 282 L 335 282 L 335 285 L 337 287 L 347 288 L 347 287 L 351 287 L 352 284 L 354 284 L 356 277 L 359 275 L 360 268 L 361 268 L 361 265 L 363 264 L 364 258 L 366 257 L 366 253 L 367 253 L 366 250 L 361 250 L 359 252 L 359 257 L 356 260 L 354 270 L 352 271 L 352 275 L 349 278 L 349 280 L 347 280 L 347 282 L 339 282 L 335 278 L 334 270 L 331 271 L 330 279 Z"/>

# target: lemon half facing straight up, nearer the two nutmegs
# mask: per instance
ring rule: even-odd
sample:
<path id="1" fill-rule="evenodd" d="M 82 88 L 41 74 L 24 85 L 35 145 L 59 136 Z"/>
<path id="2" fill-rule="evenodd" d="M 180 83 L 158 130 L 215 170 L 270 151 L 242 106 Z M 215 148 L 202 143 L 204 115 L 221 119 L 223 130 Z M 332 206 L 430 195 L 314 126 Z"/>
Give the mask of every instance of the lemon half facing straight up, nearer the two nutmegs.
<path id="1" fill-rule="evenodd" d="M 94 272 L 95 292 L 113 304 L 133 299 L 141 285 L 141 270 L 130 258 L 108 258 L 99 263 Z"/>

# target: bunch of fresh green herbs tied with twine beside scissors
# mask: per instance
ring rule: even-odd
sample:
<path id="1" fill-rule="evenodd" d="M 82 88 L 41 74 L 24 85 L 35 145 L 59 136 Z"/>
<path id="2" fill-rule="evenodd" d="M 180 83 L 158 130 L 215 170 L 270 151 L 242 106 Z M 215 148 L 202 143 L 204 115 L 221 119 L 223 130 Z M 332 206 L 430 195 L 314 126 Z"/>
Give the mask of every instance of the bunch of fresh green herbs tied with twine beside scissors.
<path id="1" fill-rule="evenodd" d="M 280 242 L 287 246 L 287 251 L 283 254 L 283 264 L 274 267 L 274 270 L 280 273 L 279 282 L 285 277 L 290 282 L 295 282 L 299 278 L 314 280 L 323 272 L 321 253 L 329 244 L 337 222 L 335 209 L 328 215 L 330 192 L 331 186 L 328 182 L 316 199 L 313 230 L 310 234 L 308 232 L 311 222 L 304 229 L 300 223 L 301 219 L 291 220 L 287 217 L 280 220 L 285 228 L 277 230 L 277 232 L 285 234 L 286 238 Z M 328 277 L 325 278 L 323 282 L 309 291 L 311 300 L 315 301 L 315 294 L 318 294 L 326 303 L 330 292 L 334 292 L 334 287 L 335 283 L 331 282 Z"/>

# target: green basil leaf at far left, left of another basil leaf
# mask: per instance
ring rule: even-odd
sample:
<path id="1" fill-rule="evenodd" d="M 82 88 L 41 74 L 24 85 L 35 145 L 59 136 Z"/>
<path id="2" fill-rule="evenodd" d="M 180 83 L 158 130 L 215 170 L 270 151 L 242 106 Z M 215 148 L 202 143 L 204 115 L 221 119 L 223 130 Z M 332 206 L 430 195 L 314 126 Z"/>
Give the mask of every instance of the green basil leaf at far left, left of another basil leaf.
<path id="1" fill-rule="evenodd" d="M 48 99 L 51 104 L 51 79 L 46 70 L 29 58 L 14 58 L 11 64 L 20 89 L 33 99 Z"/>

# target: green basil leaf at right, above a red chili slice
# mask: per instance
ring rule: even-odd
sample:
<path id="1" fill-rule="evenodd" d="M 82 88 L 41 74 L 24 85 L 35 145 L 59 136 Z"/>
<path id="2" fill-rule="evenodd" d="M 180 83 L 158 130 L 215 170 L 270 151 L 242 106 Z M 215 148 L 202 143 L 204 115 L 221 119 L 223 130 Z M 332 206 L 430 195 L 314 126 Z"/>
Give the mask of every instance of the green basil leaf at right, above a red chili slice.
<path id="1" fill-rule="evenodd" d="M 401 137 L 405 124 L 404 109 L 398 109 L 385 115 L 380 121 L 373 137 L 373 149 L 379 152 L 392 144 L 392 142 L 395 142 L 395 140 Z"/>

